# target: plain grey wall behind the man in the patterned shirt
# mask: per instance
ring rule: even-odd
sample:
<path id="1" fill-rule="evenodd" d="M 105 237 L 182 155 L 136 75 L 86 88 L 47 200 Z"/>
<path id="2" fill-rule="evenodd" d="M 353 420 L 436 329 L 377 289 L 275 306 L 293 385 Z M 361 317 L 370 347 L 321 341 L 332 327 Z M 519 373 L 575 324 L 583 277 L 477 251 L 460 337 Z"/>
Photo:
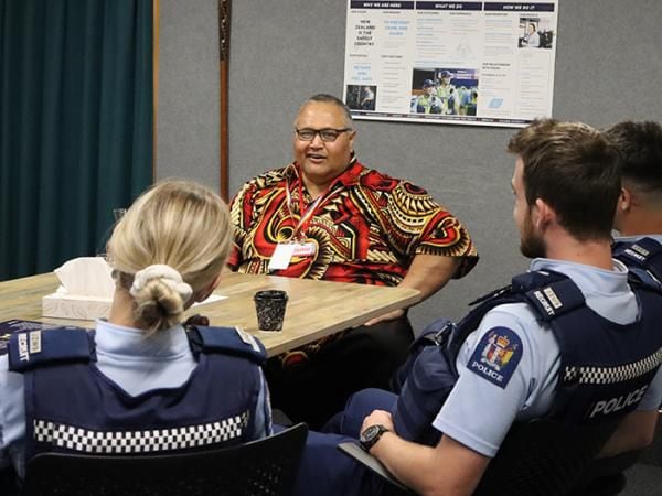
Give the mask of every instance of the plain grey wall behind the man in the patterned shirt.
<path id="1" fill-rule="evenodd" d="M 160 0 L 158 175 L 217 184 L 216 1 Z M 235 0 L 229 76 L 229 185 L 291 157 L 306 97 L 341 95 L 344 0 Z M 659 0 L 560 0 L 554 117 L 605 127 L 662 116 Z M 370 166 L 426 187 L 467 225 L 481 261 L 412 312 L 420 326 L 526 268 L 512 223 L 512 129 L 357 121 Z"/>

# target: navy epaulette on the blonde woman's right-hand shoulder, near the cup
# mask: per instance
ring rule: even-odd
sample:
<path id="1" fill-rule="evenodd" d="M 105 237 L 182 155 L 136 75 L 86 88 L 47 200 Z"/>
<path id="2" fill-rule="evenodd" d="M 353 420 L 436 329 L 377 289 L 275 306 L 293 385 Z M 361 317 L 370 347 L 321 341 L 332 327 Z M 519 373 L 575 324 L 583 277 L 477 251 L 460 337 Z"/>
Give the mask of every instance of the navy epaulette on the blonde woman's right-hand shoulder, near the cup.
<path id="1" fill-rule="evenodd" d="M 261 342 L 241 327 L 188 327 L 189 342 L 194 352 L 239 355 L 263 364 L 267 352 Z"/>

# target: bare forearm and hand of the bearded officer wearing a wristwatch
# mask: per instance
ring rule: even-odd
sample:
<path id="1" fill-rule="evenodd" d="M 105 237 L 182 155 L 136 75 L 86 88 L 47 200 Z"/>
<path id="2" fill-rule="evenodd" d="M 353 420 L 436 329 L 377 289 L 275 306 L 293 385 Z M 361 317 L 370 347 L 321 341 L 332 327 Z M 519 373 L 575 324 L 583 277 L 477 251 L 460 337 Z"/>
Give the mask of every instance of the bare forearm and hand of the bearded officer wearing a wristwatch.
<path id="1" fill-rule="evenodd" d="M 375 410 L 363 429 L 381 423 L 393 429 L 391 413 Z M 488 456 L 444 435 L 435 448 L 403 440 L 386 432 L 371 449 L 388 471 L 421 495 L 469 496 L 490 463 Z"/>

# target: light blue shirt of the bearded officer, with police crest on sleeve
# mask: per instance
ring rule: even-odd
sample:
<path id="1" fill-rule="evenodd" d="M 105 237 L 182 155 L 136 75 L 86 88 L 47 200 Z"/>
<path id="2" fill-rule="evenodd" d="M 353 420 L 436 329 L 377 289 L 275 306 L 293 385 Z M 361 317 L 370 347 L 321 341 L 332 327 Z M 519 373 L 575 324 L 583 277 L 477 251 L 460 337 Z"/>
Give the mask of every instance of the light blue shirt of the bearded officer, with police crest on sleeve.
<path id="1" fill-rule="evenodd" d="M 586 304 L 618 324 L 637 320 L 639 306 L 628 285 L 627 268 L 613 270 L 580 263 L 535 259 L 531 270 L 555 270 L 573 279 Z M 494 346 L 499 342 L 501 346 Z M 501 354 L 496 358 L 490 354 Z M 482 367 L 484 356 L 495 367 Z M 542 417 L 549 410 L 560 364 L 552 328 L 538 322 L 525 303 L 504 304 L 485 314 L 457 358 L 459 379 L 433 425 L 461 444 L 494 456 L 514 421 Z M 496 370 L 496 371 L 495 371 Z M 638 406 L 655 410 L 662 399 L 662 367 Z"/>

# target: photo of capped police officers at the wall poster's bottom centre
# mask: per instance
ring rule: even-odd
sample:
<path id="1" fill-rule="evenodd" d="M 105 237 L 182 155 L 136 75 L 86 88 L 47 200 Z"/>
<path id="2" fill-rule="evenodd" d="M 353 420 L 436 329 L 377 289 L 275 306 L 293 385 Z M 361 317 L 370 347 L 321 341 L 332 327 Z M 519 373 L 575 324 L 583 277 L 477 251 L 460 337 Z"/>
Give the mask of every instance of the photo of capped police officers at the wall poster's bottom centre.
<path id="1" fill-rule="evenodd" d="M 409 112 L 476 116 L 478 83 L 477 69 L 414 68 Z"/>

